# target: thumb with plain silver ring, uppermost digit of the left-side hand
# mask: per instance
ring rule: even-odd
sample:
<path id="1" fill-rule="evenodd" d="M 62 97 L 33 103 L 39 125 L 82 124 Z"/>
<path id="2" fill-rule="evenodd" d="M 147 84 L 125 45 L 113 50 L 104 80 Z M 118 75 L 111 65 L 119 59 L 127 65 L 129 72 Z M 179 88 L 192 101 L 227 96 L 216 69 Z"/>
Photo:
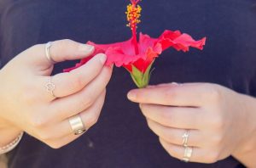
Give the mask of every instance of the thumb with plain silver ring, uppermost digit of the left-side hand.
<path id="1" fill-rule="evenodd" d="M 45 45 L 46 44 L 38 44 L 26 50 L 26 53 L 28 53 L 28 55 L 32 55 L 32 57 L 27 58 L 30 60 L 32 65 L 41 65 L 41 68 L 46 68 L 52 65 L 52 62 L 50 62 L 49 59 L 47 59 L 46 57 Z M 55 62 L 84 59 L 93 52 L 93 46 L 74 42 L 67 39 L 52 42 L 52 46 L 49 48 L 50 57 Z"/>

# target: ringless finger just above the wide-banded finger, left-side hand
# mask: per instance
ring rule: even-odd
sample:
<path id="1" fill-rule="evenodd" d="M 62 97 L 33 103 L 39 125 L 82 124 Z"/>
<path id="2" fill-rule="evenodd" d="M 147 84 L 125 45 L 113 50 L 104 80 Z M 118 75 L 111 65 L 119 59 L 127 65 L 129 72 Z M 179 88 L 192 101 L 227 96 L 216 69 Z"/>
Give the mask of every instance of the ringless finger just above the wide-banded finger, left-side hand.
<path id="1" fill-rule="evenodd" d="M 99 76 L 84 89 L 65 98 L 58 98 L 49 105 L 45 118 L 49 120 L 64 120 L 88 109 L 105 90 L 112 73 L 112 68 L 104 66 Z"/>

